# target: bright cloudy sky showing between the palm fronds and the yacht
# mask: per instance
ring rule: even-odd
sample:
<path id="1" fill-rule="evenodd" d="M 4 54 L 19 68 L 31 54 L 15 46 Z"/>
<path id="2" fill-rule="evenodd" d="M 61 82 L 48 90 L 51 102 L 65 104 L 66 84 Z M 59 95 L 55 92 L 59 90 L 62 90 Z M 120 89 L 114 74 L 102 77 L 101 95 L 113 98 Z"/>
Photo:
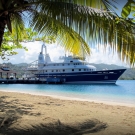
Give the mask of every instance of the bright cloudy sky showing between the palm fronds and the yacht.
<path id="1" fill-rule="evenodd" d="M 118 11 L 117 13 L 120 15 L 121 8 L 127 2 L 127 0 L 118 0 Z M 22 43 L 24 46 L 28 48 L 28 51 L 24 51 L 22 49 L 17 49 L 17 55 L 8 57 L 9 61 L 3 61 L 0 59 L 0 63 L 11 62 L 13 64 L 18 63 L 31 63 L 38 58 L 38 54 L 41 50 L 42 42 L 28 42 Z M 50 54 L 52 61 L 59 61 L 60 56 L 64 56 L 65 52 L 63 48 L 60 48 L 56 44 L 47 45 L 47 52 Z M 107 48 L 107 51 L 104 52 L 103 49 L 98 50 L 97 48 L 91 48 L 91 55 L 87 58 L 87 61 L 90 63 L 105 63 L 105 64 L 116 64 L 119 66 L 128 66 L 126 63 L 119 60 L 117 53 L 113 53 Z"/>

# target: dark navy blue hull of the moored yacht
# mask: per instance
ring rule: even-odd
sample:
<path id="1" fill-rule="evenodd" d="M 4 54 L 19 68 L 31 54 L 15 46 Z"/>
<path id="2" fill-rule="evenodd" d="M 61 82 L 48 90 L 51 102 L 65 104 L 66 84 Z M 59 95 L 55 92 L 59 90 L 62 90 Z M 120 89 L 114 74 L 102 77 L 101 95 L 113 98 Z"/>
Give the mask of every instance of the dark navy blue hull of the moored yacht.
<path id="1" fill-rule="evenodd" d="M 59 82 L 54 83 L 67 83 L 67 84 L 114 84 L 118 78 L 123 74 L 126 69 L 116 70 L 102 70 L 90 72 L 72 72 L 72 73 L 43 73 L 36 74 L 39 79 L 58 78 Z M 47 82 L 49 83 L 49 82 Z"/>

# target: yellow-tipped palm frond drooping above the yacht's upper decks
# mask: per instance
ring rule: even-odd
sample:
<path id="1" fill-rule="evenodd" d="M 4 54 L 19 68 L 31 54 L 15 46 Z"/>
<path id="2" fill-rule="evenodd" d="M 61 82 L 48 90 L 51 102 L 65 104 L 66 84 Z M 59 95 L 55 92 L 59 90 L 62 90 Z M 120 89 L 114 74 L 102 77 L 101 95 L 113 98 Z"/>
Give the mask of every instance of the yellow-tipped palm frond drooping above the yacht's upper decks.
<path id="1" fill-rule="evenodd" d="M 58 45 L 64 47 L 66 51 L 80 56 L 83 56 L 84 53 L 90 54 L 89 46 L 78 33 L 52 17 L 36 12 L 31 26 L 34 26 L 34 30 L 43 35 L 54 36 Z"/>

